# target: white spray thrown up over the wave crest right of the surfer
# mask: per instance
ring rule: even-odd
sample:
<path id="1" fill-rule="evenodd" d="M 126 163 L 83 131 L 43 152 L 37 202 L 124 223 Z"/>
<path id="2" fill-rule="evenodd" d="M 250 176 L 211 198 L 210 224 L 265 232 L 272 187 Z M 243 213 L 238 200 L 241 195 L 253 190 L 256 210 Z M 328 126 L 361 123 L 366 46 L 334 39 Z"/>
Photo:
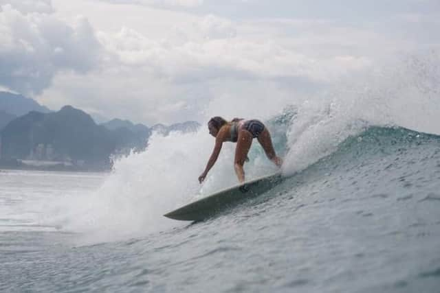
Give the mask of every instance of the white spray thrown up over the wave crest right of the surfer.
<path id="1" fill-rule="evenodd" d="M 439 113 L 439 51 L 386 60 L 298 106 L 283 169 L 287 174 L 305 169 L 368 126 L 438 134 Z"/>

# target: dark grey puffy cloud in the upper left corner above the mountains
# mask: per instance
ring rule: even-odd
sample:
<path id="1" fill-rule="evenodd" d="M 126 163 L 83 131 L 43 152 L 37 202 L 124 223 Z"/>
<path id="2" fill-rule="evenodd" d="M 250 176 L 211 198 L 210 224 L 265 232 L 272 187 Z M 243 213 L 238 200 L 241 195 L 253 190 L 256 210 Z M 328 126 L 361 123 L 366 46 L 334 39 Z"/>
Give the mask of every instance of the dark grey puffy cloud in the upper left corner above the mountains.
<path id="1" fill-rule="evenodd" d="M 50 2 L 14 1 L 1 6 L 0 84 L 24 94 L 41 93 L 58 71 L 85 73 L 98 65 L 100 43 L 84 18 L 70 26 L 51 14 L 30 12 Z M 32 9 L 31 9 L 32 8 Z M 46 10 L 45 10 L 46 11 Z"/>

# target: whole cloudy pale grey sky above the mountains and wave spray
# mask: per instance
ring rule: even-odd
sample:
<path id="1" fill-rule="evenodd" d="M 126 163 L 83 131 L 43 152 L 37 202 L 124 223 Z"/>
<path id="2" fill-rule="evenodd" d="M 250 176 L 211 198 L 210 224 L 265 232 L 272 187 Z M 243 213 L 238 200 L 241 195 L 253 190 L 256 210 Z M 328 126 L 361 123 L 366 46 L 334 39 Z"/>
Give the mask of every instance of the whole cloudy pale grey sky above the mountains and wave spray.
<path id="1" fill-rule="evenodd" d="M 439 32 L 439 0 L 0 0 L 0 89 L 149 126 L 206 121 L 439 49 Z"/>

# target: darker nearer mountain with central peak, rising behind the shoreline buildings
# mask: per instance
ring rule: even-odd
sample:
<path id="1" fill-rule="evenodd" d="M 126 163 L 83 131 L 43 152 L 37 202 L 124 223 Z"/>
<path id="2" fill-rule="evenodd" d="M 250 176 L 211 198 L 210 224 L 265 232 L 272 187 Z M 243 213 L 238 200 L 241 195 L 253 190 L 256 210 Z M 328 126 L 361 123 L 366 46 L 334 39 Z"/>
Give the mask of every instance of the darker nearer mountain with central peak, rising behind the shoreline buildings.
<path id="1" fill-rule="evenodd" d="M 108 169 L 111 154 L 143 150 L 148 134 L 109 130 L 82 110 L 64 106 L 58 112 L 32 111 L 12 120 L 1 138 L 4 159 L 72 161 L 89 169 Z"/>

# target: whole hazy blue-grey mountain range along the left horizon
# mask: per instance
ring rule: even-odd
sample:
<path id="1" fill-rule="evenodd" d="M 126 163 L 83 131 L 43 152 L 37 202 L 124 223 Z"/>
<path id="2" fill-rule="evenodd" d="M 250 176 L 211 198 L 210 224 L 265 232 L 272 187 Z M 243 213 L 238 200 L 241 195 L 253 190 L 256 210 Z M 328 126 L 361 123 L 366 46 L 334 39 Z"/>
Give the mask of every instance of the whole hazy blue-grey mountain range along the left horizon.
<path id="1" fill-rule="evenodd" d="M 122 119 L 96 124 L 91 115 L 72 106 L 51 112 L 33 99 L 0 91 L 0 165 L 3 166 L 23 167 L 20 162 L 26 160 L 67 162 L 75 170 L 109 169 L 111 157 L 145 150 L 153 131 L 167 135 L 198 128 L 195 121 L 171 126 L 156 124 L 152 128 Z"/>

